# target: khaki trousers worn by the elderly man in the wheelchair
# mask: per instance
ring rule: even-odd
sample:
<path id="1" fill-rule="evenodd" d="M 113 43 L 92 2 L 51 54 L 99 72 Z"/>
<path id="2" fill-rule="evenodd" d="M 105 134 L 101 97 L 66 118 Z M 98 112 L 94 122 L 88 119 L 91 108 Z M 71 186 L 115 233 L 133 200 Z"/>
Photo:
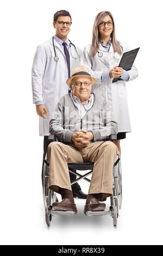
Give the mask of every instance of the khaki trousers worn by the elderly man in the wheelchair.
<path id="1" fill-rule="evenodd" d="M 94 162 L 89 194 L 102 193 L 101 198 L 112 194 L 112 168 L 117 147 L 110 141 L 90 143 L 85 148 L 52 142 L 47 149 L 50 164 L 49 188 L 60 193 L 61 188 L 71 190 L 67 163 Z"/>

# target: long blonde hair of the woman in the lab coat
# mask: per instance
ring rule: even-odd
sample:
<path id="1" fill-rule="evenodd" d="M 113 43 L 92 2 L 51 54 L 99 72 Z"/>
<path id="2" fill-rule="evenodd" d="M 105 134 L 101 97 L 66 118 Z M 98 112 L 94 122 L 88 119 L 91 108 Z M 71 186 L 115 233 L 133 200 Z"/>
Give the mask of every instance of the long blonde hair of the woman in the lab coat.
<path id="1" fill-rule="evenodd" d="M 118 54 L 122 54 L 120 42 L 117 41 L 116 35 L 115 35 L 115 23 L 114 19 L 112 17 L 112 14 L 110 11 L 101 11 L 101 13 L 98 13 L 96 15 L 94 24 L 93 24 L 93 31 L 92 31 L 92 44 L 91 44 L 91 49 L 90 49 L 90 56 L 95 57 L 97 51 L 99 50 L 99 41 L 100 41 L 100 35 L 98 31 L 98 25 L 101 22 L 101 20 L 106 16 L 109 15 L 112 20 L 112 33 L 111 33 L 111 42 L 112 42 L 112 48 L 114 52 L 117 52 Z"/>

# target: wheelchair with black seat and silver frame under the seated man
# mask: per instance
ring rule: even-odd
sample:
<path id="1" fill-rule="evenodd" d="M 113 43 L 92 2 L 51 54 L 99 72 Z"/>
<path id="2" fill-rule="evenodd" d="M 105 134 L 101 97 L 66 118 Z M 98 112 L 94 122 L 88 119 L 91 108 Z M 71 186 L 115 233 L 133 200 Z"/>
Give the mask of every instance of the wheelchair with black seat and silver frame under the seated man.
<path id="1" fill-rule="evenodd" d="M 116 135 L 109 136 L 106 140 L 114 141 L 116 140 Z M 48 136 L 49 142 L 58 141 L 57 137 L 54 135 Z M 93 171 L 93 162 L 90 163 L 67 163 L 69 172 L 79 176 L 76 180 L 71 182 L 71 185 L 78 182 L 79 180 L 86 180 L 87 182 L 91 182 L 90 179 L 86 178 L 89 176 Z M 76 170 L 89 170 L 88 173 L 81 175 Z M 114 167 L 112 170 L 112 190 L 113 194 L 110 197 L 110 207 L 109 210 L 104 211 L 87 211 L 87 216 L 99 216 L 99 215 L 110 215 L 113 218 L 114 226 L 117 225 L 117 218 L 119 217 L 120 209 L 122 208 L 122 172 L 121 172 L 121 159 L 120 153 L 117 153 Z M 45 220 L 46 224 L 49 226 L 52 221 L 52 216 L 55 214 L 57 215 L 75 215 L 73 211 L 58 211 L 53 210 L 52 204 L 54 202 L 58 202 L 57 193 L 50 190 L 48 188 L 48 181 L 49 181 L 49 163 L 45 156 L 43 159 L 43 168 L 42 168 L 42 186 L 43 186 L 43 203 L 45 206 Z"/>

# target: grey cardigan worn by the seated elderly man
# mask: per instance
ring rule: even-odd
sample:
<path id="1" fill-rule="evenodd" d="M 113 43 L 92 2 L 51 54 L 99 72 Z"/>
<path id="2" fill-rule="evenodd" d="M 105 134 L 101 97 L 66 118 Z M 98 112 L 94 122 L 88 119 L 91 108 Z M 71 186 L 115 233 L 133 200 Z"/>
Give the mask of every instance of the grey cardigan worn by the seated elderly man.
<path id="1" fill-rule="evenodd" d="M 78 130 L 92 132 L 92 142 L 102 141 L 111 134 L 117 134 L 118 126 L 112 118 L 112 106 L 109 106 L 104 97 L 95 94 L 94 96 L 93 106 L 82 119 L 73 105 L 70 94 L 61 97 L 49 123 L 49 132 L 68 144 L 72 143 L 72 133 Z"/>

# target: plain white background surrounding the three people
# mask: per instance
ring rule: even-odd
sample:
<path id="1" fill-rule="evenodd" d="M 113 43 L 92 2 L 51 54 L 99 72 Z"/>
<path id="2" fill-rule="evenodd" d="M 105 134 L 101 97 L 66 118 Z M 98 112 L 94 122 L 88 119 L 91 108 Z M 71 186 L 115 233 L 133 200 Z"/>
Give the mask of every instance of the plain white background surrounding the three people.
<path id="1" fill-rule="evenodd" d="M 162 244 L 162 8 L 155 1 L 1 1 L 1 244 Z M 121 143 L 123 205 L 115 228 L 110 216 L 54 216 L 45 223 L 41 166 L 43 138 L 32 104 L 36 46 L 54 35 L 53 15 L 72 15 L 69 34 L 82 48 L 91 42 L 99 11 L 115 19 L 117 39 L 140 47 L 139 77 L 127 84 L 133 132 Z M 87 192 L 89 184 L 82 183 Z M 107 201 L 109 207 L 109 200 Z"/>

